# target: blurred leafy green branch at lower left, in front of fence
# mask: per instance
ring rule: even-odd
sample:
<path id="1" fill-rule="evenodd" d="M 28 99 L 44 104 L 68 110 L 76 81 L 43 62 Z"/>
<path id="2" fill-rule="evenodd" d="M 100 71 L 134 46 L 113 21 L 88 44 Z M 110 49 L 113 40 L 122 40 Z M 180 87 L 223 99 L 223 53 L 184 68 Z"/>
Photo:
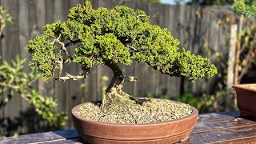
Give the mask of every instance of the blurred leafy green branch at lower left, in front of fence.
<path id="1" fill-rule="evenodd" d="M 34 107 L 39 116 L 46 119 L 50 126 L 63 126 L 66 115 L 54 111 L 57 101 L 54 98 L 38 94 L 32 84 L 38 79 L 38 75 L 33 72 L 26 74 L 23 68 L 25 59 L 17 57 L 12 61 L 12 65 L 4 61 L 0 65 L 0 94 L 6 95 L 0 102 L 0 106 L 5 106 L 14 94 L 19 94 L 24 100 Z"/>

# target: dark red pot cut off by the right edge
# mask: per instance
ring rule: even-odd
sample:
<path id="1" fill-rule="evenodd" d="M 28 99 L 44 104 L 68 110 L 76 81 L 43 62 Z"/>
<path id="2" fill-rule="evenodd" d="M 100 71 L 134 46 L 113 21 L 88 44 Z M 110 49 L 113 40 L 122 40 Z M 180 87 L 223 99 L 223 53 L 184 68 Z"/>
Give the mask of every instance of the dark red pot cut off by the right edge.
<path id="1" fill-rule="evenodd" d="M 246 85 L 249 84 L 232 86 L 237 93 L 238 108 L 244 117 L 256 116 L 256 90 L 247 88 Z"/>

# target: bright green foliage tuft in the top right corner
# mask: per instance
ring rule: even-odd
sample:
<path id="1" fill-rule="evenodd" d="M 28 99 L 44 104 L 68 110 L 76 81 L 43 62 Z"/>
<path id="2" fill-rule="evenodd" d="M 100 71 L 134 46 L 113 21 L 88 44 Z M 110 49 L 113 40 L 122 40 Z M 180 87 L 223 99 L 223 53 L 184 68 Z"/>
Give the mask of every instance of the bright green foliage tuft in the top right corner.
<path id="1" fill-rule="evenodd" d="M 256 15 L 256 1 L 255 0 L 238 0 L 233 5 L 234 12 L 243 14 L 246 17 Z"/>

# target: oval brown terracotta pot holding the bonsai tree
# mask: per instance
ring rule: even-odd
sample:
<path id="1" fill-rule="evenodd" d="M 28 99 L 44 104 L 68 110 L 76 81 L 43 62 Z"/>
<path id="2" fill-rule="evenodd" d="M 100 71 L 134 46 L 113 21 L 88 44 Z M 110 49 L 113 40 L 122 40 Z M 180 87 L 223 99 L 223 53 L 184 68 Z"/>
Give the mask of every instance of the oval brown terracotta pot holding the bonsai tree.
<path id="1" fill-rule="evenodd" d="M 172 121 L 149 124 L 116 124 L 86 120 L 77 112 L 80 104 L 72 109 L 74 127 L 80 137 L 91 144 L 145 143 L 159 144 L 180 142 L 190 135 L 198 117 L 198 110 Z"/>

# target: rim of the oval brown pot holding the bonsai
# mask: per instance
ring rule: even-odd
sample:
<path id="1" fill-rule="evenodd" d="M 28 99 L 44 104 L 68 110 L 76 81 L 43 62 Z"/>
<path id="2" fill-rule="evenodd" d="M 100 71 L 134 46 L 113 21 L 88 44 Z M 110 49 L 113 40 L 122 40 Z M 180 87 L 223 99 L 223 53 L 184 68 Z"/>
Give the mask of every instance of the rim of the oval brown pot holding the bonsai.
<path id="1" fill-rule="evenodd" d="M 173 100 L 170 100 L 172 102 L 177 102 L 177 101 L 173 101 Z M 99 125 L 107 125 L 107 126 L 158 126 L 158 125 L 162 125 L 162 124 L 166 124 L 166 123 L 171 123 L 171 122 L 178 122 L 178 121 L 181 121 L 181 120 L 186 120 L 186 119 L 189 119 L 189 118 L 192 118 L 194 116 L 197 116 L 198 115 L 198 110 L 196 108 L 194 108 L 194 106 L 190 106 L 191 109 L 193 110 L 191 114 L 185 116 L 185 117 L 182 117 L 182 118 L 177 118 L 177 119 L 174 119 L 174 120 L 170 120 L 170 121 L 165 121 L 165 122 L 150 122 L 150 123 L 127 123 L 127 124 L 122 124 L 122 123 L 112 123 L 112 122 L 100 122 L 100 121 L 93 121 L 93 120 L 88 120 L 82 116 L 80 116 L 77 112 L 78 108 L 82 105 L 84 105 L 85 103 L 89 103 L 89 102 L 84 102 L 84 103 L 81 103 L 77 106 L 74 106 L 74 108 L 72 109 L 72 115 L 75 117 L 75 118 L 78 118 L 82 121 L 86 121 L 86 122 L 90 122 L 90 123 L 94 123 L 94 124 L 99 124 Z M 178 103 L 183 103 L 183 102 L 178 102 Z"/>

